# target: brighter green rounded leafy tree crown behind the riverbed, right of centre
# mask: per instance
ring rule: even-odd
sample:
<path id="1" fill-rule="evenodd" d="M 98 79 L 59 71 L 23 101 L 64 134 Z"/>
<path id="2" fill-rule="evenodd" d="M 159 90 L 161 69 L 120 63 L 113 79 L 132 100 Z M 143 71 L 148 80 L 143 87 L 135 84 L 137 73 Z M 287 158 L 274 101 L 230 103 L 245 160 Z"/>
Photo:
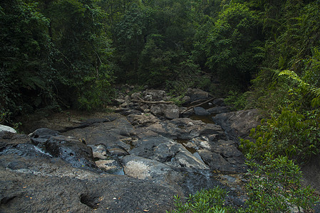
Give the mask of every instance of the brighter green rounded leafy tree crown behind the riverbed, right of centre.
<path id="1" fill-rule="evenodd" d="M 262 58 L 259 16 L 244 4 L 230 4 L 217 17 L 205 41 L 207 67 L 224 84 L 247 89 Z"/>

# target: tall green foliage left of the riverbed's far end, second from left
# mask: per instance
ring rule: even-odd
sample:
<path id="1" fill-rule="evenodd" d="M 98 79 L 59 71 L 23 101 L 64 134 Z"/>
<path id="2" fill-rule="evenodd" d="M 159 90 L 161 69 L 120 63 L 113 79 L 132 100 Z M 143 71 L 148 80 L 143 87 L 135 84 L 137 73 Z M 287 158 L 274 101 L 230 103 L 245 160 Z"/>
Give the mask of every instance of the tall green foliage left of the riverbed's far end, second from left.
<path id="1" fill-rule="evenodd" d="M 79 104 L 71 103 L 73 107 L 103 107 L 110 100 L 113 82 L 107 14 L 96 1 L 61 0 L 53 2 L 48 16 L 58 50 L 53 65 L 57 81 L 75 89 L 73 96 L 78 95 Z"/>

